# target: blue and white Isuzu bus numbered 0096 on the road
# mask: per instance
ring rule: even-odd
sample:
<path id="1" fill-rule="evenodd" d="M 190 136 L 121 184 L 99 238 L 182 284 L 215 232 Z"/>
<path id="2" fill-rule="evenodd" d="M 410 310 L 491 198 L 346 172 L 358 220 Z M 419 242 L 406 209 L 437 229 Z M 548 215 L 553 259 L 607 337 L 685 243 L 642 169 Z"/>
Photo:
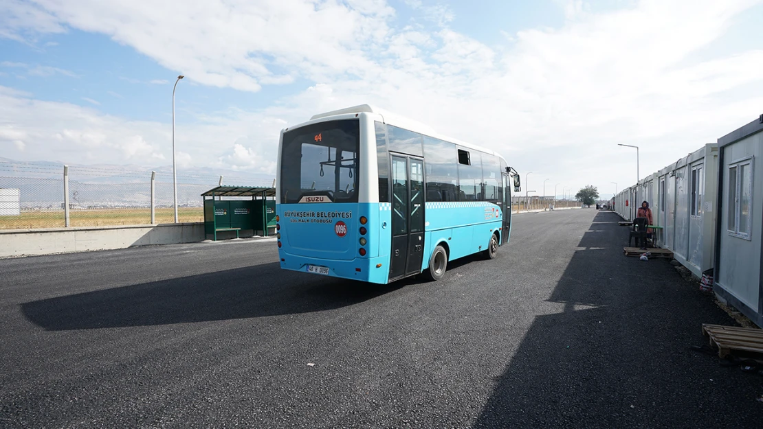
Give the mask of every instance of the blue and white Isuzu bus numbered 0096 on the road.
<path id="1" fill-rule="evenodd" d="M 513 183 L 511 183 L 513 180 Z M 287 270 L 389 283 L 508 242 L 519 174 L 497 153 L 363 104 L 282 130 L 278 255 Z"/>

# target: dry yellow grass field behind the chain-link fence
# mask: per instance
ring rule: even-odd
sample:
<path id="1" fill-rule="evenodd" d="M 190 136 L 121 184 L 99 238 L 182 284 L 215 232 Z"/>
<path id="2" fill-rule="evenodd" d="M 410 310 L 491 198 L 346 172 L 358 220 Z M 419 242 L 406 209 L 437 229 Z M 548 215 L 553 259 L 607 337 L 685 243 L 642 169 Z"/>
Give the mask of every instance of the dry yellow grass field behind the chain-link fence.
<path id="1" fill-rule="evenodd" d="M 156 223 L 172 223 L 174 212 L 156 209 Z M 181 207 L 178 209 L 180 222 L 204 222 L 201 207 Z M 71 210 L 71 226 L 114 226 L 144 225 L 151 222 L 150 209 L 103 209 Z M 40 229 L 63 228 L 63 210 L 22 212 L 21 216 L 0 216 L 0 229 Z"/>

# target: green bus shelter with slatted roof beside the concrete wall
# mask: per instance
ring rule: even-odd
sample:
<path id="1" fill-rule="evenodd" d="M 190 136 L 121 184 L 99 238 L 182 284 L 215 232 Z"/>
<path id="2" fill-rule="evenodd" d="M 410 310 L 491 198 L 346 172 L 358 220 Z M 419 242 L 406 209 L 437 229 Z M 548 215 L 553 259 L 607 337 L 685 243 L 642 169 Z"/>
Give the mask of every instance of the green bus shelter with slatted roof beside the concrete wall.
<path id="1" fill-rule="evenodd" d="M 258 232 L 275 229 L 275 188 L 218 186 L 201 194 L 204 198 L 204 234 L 217 241 L 218 232 Z M 250 197 L 251 199 L 248 199 Z"/>

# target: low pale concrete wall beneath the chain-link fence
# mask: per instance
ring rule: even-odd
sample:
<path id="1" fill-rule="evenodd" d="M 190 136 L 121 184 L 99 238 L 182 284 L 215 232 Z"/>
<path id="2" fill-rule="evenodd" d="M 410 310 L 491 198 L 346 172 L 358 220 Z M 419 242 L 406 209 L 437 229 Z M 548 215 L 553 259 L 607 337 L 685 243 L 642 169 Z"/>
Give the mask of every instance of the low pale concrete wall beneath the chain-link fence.
<path id="1" fill-rule="evenodd" d="M 204 223 L 0 230 L 0 258 L 169 245 L 204 239 Z"/>

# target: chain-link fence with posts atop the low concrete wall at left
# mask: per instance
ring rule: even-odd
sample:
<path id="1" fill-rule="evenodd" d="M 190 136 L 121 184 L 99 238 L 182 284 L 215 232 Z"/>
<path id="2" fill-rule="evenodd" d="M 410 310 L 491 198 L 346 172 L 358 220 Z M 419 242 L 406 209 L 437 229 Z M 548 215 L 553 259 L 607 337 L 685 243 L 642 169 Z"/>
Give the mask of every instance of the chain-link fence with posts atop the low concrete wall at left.
<path id="1" fill-rule="evenodd" d="M 269 187 L 272 180 L 230 178 L 235 184 Z M 201 194 L 219 184 L 220 176 L 178 175 L 178 221 L 203 222 Z M 66 191 L 65 191 L 66 188 Z M 105 168 L 40 167 L 0 162 L 0 229 L 66 226 L 120 226 L 173 223 L 172 174 L 111 171 Z"/>

